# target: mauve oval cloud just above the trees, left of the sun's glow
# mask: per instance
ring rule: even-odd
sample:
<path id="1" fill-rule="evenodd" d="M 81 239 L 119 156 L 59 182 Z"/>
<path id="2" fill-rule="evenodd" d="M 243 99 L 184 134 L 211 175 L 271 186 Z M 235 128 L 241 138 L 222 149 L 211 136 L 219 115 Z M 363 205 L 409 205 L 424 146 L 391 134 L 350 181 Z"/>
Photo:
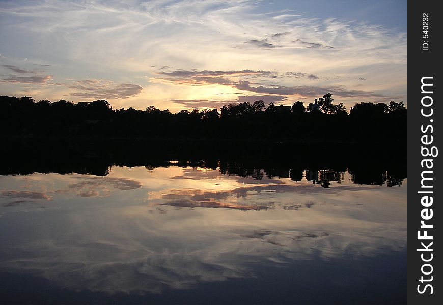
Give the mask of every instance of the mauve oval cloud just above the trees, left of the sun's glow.
<path id="1" fill-rule="evenodd" d="M 80 80 L 75 85 L 69 86 L 76 92 L 66 94 L 91 99 L 127 99 L 140 94 L 143 88 L 139 85 L 123 83 L 114 85 L 107 80 Z"/>

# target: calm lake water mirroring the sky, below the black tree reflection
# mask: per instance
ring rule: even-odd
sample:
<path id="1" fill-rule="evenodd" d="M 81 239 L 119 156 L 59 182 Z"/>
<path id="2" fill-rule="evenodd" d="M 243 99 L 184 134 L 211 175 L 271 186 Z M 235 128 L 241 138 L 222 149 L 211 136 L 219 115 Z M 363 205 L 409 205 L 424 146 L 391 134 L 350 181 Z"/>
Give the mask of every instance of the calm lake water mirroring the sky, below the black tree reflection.
<path id="1" fill-rule="evenodd" d="M 405 303 L 407 179 L 215 167 L 0 176 L 0 302 Z"/>

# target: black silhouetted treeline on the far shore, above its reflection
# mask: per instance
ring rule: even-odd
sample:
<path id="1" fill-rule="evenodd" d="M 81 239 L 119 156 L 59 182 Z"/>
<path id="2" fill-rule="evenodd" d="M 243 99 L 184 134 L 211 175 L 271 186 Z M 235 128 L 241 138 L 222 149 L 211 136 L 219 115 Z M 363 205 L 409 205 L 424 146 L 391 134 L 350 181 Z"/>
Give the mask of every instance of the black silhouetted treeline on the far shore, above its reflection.
<path id="1" fill-rule="evenodd" d="M 230 103 L 217 109 L 182 110 L 149 106 L 112 109 L 106 100 L 36 102 L 0 96 L 2 137 L 100 137 L 148 139 L 258 140 L 265 142 L 406 143 L 403 102 L 360 102 L 349 111 L 327 93 L 306 107 Z"/>

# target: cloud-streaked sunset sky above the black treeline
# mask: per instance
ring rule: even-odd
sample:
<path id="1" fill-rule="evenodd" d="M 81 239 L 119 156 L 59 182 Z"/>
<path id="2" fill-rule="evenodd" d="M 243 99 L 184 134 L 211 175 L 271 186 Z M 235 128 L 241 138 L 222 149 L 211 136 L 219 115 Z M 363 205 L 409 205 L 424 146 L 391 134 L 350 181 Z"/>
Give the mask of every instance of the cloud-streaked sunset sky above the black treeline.
<path id="1" fill-rule="evenodd" d="M 0 1 L 0 95 L 407 105 L 407 1 Z"/>

